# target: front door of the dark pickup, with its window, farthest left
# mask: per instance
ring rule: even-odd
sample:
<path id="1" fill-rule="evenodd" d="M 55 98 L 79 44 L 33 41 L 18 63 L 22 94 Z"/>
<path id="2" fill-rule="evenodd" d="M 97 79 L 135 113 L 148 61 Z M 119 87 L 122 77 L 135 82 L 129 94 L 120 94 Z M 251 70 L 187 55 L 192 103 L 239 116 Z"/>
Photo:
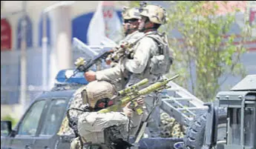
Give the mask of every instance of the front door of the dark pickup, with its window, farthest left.
<path id="1" fill-rule="evenodd" d="M 35 136 L 39 130 L 39 123 L 46 108 L 46 100 L 41 99 L 34 102 L 17 125 L 16 135 L 8 136 L 10 144 L 5 145 L 8 149 L 30 149 L 33 148 Z"/>

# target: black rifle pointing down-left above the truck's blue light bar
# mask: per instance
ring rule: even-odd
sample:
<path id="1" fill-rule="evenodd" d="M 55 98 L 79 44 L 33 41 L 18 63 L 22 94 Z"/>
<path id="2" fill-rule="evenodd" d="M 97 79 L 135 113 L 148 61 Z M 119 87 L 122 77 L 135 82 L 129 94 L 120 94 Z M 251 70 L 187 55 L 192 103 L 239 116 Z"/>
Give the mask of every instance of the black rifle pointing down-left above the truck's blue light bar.
<path id="1" fill-rule="evenodd" d="M 80 57 L 79 59 L 76 59 L 76 62 L 75 62 L 76 70 L 73 71 L 73 75 L 70 76 L 68 79 L 75 76 L 76 73 L 87 72 L 93 64 L 96 64 L 96 62 L 98 62 L 100 59 L 106 59 L 106 57 L 111 53 L 113 53 L 113 50 L 108 50 L 103 53 L 99 53 L 99 56 L 96 56 L 93 59 L 90 59 L 88 62 L 85 62 L 85 59 L 82 57 Z M 68 79 L 66 79 L 65 82 L 68 81 Z"/>

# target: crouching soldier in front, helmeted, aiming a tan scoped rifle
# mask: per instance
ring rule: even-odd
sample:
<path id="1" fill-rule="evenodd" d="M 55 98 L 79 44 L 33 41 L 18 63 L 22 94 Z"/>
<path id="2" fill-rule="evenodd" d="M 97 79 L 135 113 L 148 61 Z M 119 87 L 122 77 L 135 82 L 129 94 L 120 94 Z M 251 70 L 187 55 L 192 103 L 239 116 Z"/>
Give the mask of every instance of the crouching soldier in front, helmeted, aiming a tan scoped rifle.
<path id="1" fill-rule="evenodd" d="M 78 118 L 77 130 L 79 136 L 70 144 L 71 149 L 82 149 L 82 145 L 101 145 L 102 149 L 115 149 L 131 146 L 126 142 L 128 137 L 128 125 L 134 128 L 134 119 L 129 117 L 133 110 L 129 107 L 128 103 L 119 112 L 111 113 L 97 113 L 98 110 L 108 107 L 110 100 L 116 93 L 116 88 L 109 82 L 94 81 L 90 82 L 85 87 L 80 87 L 76 92 L 78 99 L 73 101 L 82 102 L 82 105 L 87 105 L 86 112 L 71 113 L 70 116 Z M 79 94 L 79 96 L 78 96 Z M 73 102 L 72 101 L 72 102 Z M 143 104 L 142 98 L 137 99 L 139 105 Z M 71 107 L 71 106 L 70 106 Z M 73 107 L 73 106 L 72 106 Z M 60 130 L 59 135 L 67 131 Z M 89 148 L 88 146 L 88 148 Z"/>

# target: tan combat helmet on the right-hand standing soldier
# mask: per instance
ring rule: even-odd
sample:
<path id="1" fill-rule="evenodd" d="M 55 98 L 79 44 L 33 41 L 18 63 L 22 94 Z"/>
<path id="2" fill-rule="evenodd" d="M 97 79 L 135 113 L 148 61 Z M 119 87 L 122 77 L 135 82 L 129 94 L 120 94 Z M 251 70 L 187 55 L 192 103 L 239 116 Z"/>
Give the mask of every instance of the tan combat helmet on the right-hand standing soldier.
<path id="1" fill-rule="evenodd" d="M 154 4 L 140 4 L 140 15 L 148 17 L 155 24 L 165 24 L 167 21 L 166 10 Z"/>

